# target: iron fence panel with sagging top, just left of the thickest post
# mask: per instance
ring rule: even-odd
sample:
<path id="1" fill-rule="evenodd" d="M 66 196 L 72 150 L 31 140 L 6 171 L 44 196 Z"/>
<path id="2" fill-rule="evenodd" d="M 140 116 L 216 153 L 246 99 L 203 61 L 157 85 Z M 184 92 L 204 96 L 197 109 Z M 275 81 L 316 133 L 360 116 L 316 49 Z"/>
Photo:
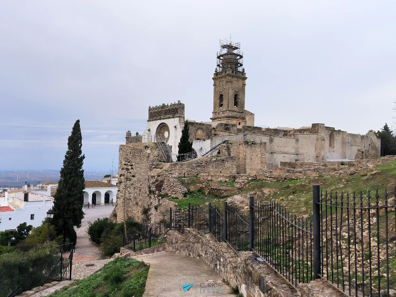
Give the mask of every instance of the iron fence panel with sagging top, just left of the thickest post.
<path id="1" fill-rule="evenodd" d="M 290 283 L 313 279 L 312 221 L 293 215 L 278 202 L 252 201 L 253 250 Z"/>

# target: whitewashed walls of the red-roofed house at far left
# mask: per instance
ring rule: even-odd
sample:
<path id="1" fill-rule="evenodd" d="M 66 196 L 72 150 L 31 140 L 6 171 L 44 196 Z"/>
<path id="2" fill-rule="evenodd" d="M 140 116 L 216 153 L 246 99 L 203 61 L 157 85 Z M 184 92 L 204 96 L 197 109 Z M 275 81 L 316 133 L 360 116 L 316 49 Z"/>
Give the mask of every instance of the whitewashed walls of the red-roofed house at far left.
<path id="1" fill-rule="evenodd" d="M 49 211 L 52 206 L 52 201 L 24 202 L 24 208 L 0 212 L 0 231 L 16 229 L 19 224 L 24 222 L 35 228 L 39 227 L 42 221 L 47 217 L 47 211 Z M 30 219 L 31 214 L 34 214 L 34 220 Z"/>

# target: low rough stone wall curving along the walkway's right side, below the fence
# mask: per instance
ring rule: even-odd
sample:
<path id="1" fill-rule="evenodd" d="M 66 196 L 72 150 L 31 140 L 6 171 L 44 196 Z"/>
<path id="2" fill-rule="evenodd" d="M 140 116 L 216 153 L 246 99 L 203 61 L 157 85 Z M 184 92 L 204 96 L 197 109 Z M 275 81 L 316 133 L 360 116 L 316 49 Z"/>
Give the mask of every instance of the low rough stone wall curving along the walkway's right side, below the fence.
<path id="1" fill-rule="evenodd" d="M 301 284 L 298 290 L 266 263 L 259 263 L 252 251 L 238 254 L 226 243 L 218 243 L 210 234 L 192 229 L 184 234 L 170 230 L 167 243 L 138 252 L 121 248 L 121 255 L 135 256 L 168 251 L 202 259 L 223 277 L 231 287 L 238 286 L 244 297 L 341 297 L 341 292 L 322 280 Z"/>

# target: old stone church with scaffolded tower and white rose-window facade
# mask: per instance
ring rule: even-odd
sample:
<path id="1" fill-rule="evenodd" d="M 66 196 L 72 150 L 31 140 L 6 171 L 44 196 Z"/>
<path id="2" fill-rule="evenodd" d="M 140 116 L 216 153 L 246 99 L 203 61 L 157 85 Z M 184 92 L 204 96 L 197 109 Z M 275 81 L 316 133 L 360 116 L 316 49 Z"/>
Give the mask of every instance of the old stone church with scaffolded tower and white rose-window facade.
<path id="1" fill-rule="evenodd" d="M 178 157 L 185 123 L 185 104 L 180 100 L 149 106 L 145 132 L 132 136 L 128 131 L 126 144 L 157 143 L 165 162 L 234 155 L 240 174 L 258 174 L 280 167 L 281 162 L 354 160 L 380 155 L 381 140 L 372 132 L 350 134 L 320 123 L 298 129 L 255 127 L 254 114 L 245 109 L 247 75 L 239 43 L 220 41 L 212 79 L 211 121 L 188 120 L 193 155 Z"/>

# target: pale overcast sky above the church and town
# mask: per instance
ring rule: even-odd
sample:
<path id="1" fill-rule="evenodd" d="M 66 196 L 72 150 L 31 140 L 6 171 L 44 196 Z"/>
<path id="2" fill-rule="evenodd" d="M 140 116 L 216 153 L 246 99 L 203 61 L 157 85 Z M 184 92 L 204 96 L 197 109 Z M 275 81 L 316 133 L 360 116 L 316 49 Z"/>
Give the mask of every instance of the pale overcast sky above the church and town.
<path id="1" fill-rule="evenodd" d="M 241 43 L 256 126 L 395 128 L 396 2 L 0 1 L 0 169 L 111 168 L 148 106 L 209 121 L 219 40 Z"/>

